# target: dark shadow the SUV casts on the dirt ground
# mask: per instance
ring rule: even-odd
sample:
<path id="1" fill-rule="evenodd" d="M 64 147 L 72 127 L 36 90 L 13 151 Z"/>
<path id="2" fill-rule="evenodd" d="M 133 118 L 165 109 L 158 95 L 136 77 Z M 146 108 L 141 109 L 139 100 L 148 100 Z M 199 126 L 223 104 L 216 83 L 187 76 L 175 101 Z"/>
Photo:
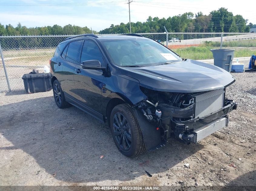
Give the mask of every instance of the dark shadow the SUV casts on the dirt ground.
<path id="1" fill-rule="evenodd" d="M 13 144 L 1 150 L 22 149 L 47 173 L 57 173 L 55 179 L 67 182 L 129 181 L 145 170 L 164 172 L 203 148 L 170 139 L 161 149 L 125 157 L 107 124 L 76 107 L 59 109 L 52 96 L 1 106 L 0 116 L 0 132 Z M 36 176 L 38 169 L 31 170 Z"/>

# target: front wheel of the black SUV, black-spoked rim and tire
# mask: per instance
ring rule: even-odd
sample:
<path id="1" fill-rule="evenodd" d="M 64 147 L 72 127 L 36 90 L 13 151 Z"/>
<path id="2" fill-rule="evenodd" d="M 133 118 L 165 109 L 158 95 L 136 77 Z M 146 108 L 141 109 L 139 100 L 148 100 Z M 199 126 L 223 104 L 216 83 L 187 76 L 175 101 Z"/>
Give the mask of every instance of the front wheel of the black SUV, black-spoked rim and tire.
<path id="1" fill-rule="evenodd" d="M 114 107 L 110 116 L 111 133 L 118 150 L 127 157 L 145 152 L 145 144 L 136 116 L 127 104 Z"/>

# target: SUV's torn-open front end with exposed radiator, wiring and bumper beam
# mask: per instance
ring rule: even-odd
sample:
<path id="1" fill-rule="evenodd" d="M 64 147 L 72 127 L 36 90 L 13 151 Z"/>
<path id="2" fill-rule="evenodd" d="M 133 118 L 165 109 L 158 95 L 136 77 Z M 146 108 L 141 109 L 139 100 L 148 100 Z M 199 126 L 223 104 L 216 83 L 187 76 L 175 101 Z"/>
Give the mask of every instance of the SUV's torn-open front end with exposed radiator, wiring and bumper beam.
<path id="1" fill-rule="evenodd" d="M 153 141 L 156 143 L 151 143 L 148 150 L 165 145 L 173 135 L 186 144 L 196 143 L 228 126 L 228 113 L 237 107 L 233 100 L 225 99 L 225 88 L 197 93 L 140 88 L 148 98 L 133 107 L 136 109 L 145 144 L 151 142 L 150 137 L 154 136 Z"/>

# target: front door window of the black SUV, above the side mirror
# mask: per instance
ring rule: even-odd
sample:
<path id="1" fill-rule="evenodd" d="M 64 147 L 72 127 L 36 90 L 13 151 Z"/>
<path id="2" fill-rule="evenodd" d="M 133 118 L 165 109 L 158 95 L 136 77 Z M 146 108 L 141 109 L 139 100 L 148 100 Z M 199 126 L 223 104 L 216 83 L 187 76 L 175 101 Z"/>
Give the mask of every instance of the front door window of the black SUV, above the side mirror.
<path id="1" fill-rule="evenodd" d="M 101 65 L 105 65 L 105 60 L 102 56 L 102 53 L 99 47 L 92 41 L 85 40 L 82 54 L 81 54 L 81 63 L 87 60 L 98 60 Z"/>

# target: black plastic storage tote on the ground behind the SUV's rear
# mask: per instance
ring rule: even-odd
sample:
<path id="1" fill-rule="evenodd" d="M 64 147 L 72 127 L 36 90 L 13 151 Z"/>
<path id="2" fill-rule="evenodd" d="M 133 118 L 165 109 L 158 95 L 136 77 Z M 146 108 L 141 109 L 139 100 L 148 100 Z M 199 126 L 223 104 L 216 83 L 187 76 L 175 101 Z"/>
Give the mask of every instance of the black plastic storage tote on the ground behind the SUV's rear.
<path id="1" fill-rule="evenodd" d="M 51 73 L 24 74 L 22 79 L 27 93 L 50 91 L 52 89 Z"/>

